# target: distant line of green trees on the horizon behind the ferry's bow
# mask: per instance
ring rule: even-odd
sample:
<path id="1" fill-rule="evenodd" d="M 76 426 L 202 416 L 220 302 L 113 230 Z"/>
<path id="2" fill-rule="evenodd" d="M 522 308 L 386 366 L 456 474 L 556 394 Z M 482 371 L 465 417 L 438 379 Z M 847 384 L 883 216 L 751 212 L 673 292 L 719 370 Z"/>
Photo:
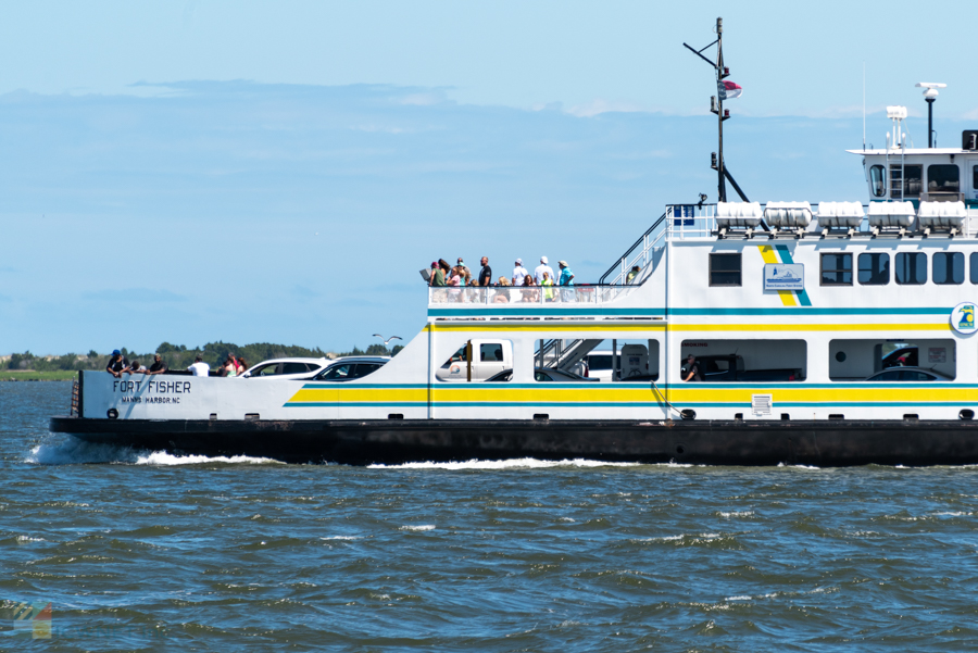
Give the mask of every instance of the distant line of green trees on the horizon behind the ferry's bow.
<path id="1" fill-rule="evenodd" d="M 139 361 L 147 367 L 152 364 L 153 354 L 160 354 L 163 356 L 163 361 L 168 367 L 181 369 L 189 366 L 198 355 L 200 355 L 211 367 L 226 361 L 228 354 L 235 354 L 235 356 L 239 359 L 243 357 L 248 362 L 248 365 L 251 366 L 255 363 L 267 361 L 268 359 L 321 359 L 323 356 L 333 359 L 339 356 L 362 355 L 388 356 L 396 355 L 402 349 L 404 348 L 400 344 L 396 344 L 393 349 L 388 350 L 383 344 L 375 343 L 367 347 L 366 350 L 354 347 L 353 351 L 349 352 L 324 352 L 318 347 L 315 349 L 306 349 L 294 344 L 272 344 L 269 342 L 255 342 L 239 347 L 233 342 L 221 342 L 218 340 L 217 342 L 208 342 L 203 347 L 196 347 L 193 349 L 188 349 L 185 344 L 163 342 L 154 352 L 137 353 L 135 351 L 129 351 L 125 347 L 120 348 L 120 351 L 129 360 L 129 362 Z M 5 361 L 5 364 L 0 366 L 0 368 L 34 369 L 37 372 L 53 372 L 57 369 L 104 369 L 109 364 L 109 356 L 110 354 L 108 353 L 100 354 L 95 350 L 89 351 L 88 354 L 85 355 L 67 353 L 62 356 L 36 356 L 29 351 L 25 351 L 22 354 L 11 355 L 10 360 Z"/>

